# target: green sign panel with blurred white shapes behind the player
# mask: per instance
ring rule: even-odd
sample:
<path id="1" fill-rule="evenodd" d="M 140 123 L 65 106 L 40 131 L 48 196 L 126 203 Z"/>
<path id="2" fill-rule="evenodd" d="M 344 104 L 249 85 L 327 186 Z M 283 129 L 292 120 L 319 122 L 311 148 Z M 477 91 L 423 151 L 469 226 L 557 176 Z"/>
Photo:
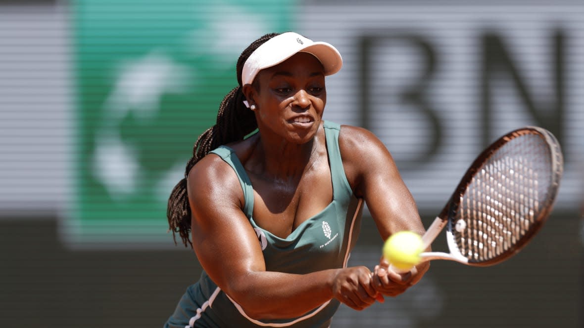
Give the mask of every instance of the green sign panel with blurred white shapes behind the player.
<path id="1" fill-rule="evenodd" d="M 235 62 L 291 1 L 74 3 L 74 244 L 168 242 L 166 202 L 197 136 L 237 86 Z M 103 244 L 106 243 L 106 244 Z"/>

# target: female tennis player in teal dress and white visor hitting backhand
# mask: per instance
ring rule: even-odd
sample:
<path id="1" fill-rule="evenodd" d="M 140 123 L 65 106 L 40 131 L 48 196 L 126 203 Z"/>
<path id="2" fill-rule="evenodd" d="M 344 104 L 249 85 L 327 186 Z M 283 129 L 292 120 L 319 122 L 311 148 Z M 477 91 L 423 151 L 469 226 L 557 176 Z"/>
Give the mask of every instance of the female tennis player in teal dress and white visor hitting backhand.
<path id="1" fill-rule="evenodd" d="M 204 271 L 165 327 L 329 327 L 340 303 L 365 309 L 423 276 L 428 264 L 347 267 L 363 202 L 382 241 L 424 228 L 384 144 L 323 121 L 325 76 L 341 66 L 332 45 L 292 32 L 242 52 L 239 86 L 169 199 Z"/>

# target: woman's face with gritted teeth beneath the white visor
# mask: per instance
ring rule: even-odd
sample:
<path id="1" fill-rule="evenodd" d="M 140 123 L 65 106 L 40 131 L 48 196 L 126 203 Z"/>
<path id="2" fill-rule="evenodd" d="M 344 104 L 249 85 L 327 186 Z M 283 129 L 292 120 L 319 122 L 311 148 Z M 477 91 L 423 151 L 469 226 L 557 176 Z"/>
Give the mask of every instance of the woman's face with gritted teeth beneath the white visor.
<path id="1" fill-rule="evenodd" d="M 299 52 L 261 70 L 254 84 L 258 89 L 249 89 L 262 135 L 292 143 L 306 143 L 316 135 L 326 103 L 324 69 L 316 57 Z"/>

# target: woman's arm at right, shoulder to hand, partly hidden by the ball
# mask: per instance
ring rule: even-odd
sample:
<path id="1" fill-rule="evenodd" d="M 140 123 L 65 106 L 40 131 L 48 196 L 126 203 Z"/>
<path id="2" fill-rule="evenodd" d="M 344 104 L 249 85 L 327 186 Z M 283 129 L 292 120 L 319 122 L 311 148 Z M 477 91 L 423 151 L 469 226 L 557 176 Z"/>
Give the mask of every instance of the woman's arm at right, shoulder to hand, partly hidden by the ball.
<path id="1" fill-rule="evenodd" d="M 343 125 L 339 146 L 347 179 L 355 195 L 367 203 L 382 241 L 402 230 L 422 235 L 425 229 L 416 203 L 385 145 L 366 129 Z M 391 296 L 417 283 L 429 268 L 429 264 L 423 263 L 410 273 L 397 274 L 388 271 L 387 266 L 382 260 L 376 267 L 374 286 Z"/>

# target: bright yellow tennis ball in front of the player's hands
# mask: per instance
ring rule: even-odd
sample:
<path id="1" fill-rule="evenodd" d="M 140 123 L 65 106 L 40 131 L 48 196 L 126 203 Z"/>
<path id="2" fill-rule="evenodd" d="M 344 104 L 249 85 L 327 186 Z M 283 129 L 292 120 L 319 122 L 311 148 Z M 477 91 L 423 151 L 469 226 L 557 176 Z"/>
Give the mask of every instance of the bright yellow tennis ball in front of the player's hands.
<path id="1" fill-rule="evenodd" d="M 422 251 L 422 237 L 412 231 L 399 231 L 387 238 L 383 245 L 384 258 L 402 271 L 409 271 L 420 263 Z"/>

